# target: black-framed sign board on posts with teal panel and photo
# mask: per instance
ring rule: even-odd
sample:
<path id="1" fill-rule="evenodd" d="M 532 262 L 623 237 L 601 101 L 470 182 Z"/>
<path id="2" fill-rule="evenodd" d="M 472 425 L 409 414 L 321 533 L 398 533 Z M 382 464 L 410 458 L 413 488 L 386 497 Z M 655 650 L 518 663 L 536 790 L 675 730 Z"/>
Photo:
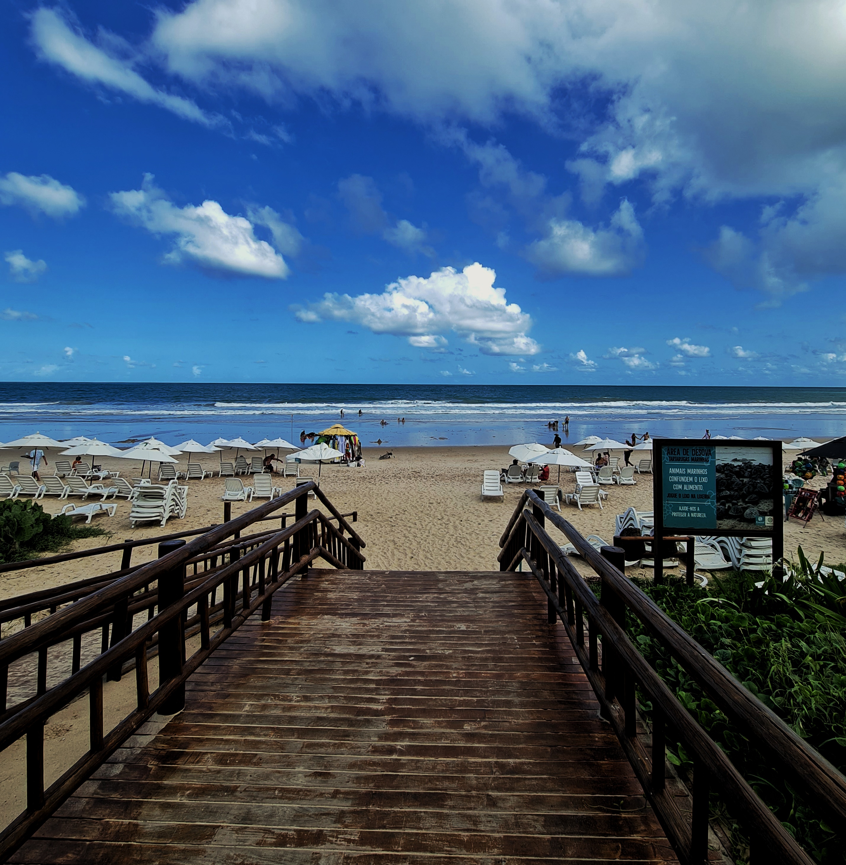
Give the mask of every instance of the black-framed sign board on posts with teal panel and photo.
<path id="1" fill-rule="evenodd" d="M 661 539 L 671 535 L 765 537 L 785 554 L 780 441 L 654 439 L 655 582 Z"/>

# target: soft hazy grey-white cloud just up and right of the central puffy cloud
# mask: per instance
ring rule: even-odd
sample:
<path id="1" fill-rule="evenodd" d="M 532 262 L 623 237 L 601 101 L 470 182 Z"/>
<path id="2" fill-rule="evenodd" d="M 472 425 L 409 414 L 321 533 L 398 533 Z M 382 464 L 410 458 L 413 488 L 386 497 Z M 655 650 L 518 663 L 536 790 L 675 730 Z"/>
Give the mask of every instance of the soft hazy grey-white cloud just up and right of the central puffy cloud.
<path id="1" fill-rule="evenodd" d="M 529 245 L 526 258 L 550 276 L 623 276 L 643 261 L 643 230 L 635 209 L 623 199 L 607 228 L 552 217 L 546 236 Z"/>

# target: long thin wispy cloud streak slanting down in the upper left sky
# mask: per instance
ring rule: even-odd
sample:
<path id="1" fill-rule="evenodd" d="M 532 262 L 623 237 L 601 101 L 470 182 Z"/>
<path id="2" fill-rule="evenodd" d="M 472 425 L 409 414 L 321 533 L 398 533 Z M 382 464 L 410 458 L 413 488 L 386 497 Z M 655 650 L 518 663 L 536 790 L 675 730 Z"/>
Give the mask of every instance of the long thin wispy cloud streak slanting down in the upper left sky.
<path id="1" fill-rule="evenodd" d="M 130 61 L 110 53 L 108 49 L 114 48 L 122 48 L 126 53 L 128 46 L 119 45 L 117 37 L 101 30 L 100 41 L 104 46 L 98 48 L 79 29 L 72 28 L 57 9 L 42 6 L 33 12 L 32 40 L 42 60 L 55 63 L 88 84 L 126 93 L 139 102 L 165 108 L 178 117 L 204 126 L 222 122 L 221 118 L 203 112 L 190 99 L 157 90 L 132 68 Z"/>

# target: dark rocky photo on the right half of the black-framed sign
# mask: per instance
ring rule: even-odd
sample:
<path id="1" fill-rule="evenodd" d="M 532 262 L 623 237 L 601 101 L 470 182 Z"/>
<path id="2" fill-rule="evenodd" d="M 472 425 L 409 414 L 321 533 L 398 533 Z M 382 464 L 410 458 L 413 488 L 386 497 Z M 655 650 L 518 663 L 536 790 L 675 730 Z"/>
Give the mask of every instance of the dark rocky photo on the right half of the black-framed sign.
<path id="1" fill-rule="evenodd" d="M 716 476 L 718 529 L 772 530 L 781 496 L 772 487 L 772 451 L 718 445 Z"/>

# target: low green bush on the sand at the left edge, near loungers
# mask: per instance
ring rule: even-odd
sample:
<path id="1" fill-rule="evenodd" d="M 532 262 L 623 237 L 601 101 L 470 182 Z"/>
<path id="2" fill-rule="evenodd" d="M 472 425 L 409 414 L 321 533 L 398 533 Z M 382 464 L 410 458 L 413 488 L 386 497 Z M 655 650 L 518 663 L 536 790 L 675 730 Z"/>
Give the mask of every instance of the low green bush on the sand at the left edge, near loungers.
<path id="1" fill-rule="evenodd" d="M 105 535 L 97 526 L 74 526 L 69 516 L 50 516 L 30 499 L 0 502 L 0 562 L 55 552 L 76 538 Z"/>

